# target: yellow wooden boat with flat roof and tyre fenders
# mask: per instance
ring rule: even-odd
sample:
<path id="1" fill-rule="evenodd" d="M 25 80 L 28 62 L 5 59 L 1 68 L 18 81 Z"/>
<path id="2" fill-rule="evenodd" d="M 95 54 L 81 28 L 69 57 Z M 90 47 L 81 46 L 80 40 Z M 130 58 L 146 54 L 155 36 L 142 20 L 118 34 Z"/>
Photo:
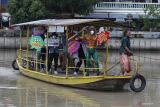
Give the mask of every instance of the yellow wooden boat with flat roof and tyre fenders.
<path id="1" fill-rule="evenodd" d="M 16 61 L 13 62 L 13 67 L 17 63 L 19 71 L 28 77 L 35 78 L 41 81 L 63 85 L 63 86 L 70 86 L 76 88 L 83 88 L 89 90 L 109 90 L 113 88 L 122 88 L 126 83 L 130 84 L 130 87 L 135 92 L 140 92 L 145 88 L 146 81 L 145 78 L 139 74 L 138 72 L 138 65 L 135 64 L 136 71 L 135 74 L 129 76 L 111 76 L 107 74 L 107 71 L 110 69 L 108 68 L 108 45 L 106 45 L 106 63 L 103 68 L 101 68 L 101 74 L 98 76 L 90 75 L 85 76 L 85 71 L 83 68 L 82 74 L 78 76 L 70 75 L 70 70 L 74 67 L 69 66 L 68 64 L 68 56 L 66 55 L 66 66 L 63 74 L 59 73 L 58 75 L 51 75 L 45 70 L 45 72 L 40 72 L 38 70 L 38 63 L 43 63 L 46 65 L 48 63 L 48 54 L 46 54 L 45 62 L 39 62 L 37 60 L 37 52 L 33 55 L 30 54 L 31 49 L 29 48 L 29 37 L 31 35 L 30 31 L 33 26 L 45 26 L 49 31 L 55 30 L 55 28 L 59 28 L 60 31 L 58 32 L 65 32 L 66 34 L 66 43 L 68 43 L 68 33 L 69 30 L 73 27 L 84 27 L 84 26 L 105 26 L 110 23 L 107 20 L 103 19 L 47 19 L 47 20 L 39 20 L 39 21 L 32 21 L 26 23 L 15 24 L 14 27 L 20 27 L 21 29 L 25 26 L 27 27 L 27 46 L 26 50 L 22 50 L 22 31 L 20 31 L 20 49 L 17 51 Z M 48 32 L 47 32 L 47 39 L 48 39 Z M 66 45 L 66 49 L 68 45 Z M 46 50 L 48 50 L 48 46 L 46 46 Z M 33 50 L 32 50 L 33 51 Z M 47 51 L 48 52 L 48 51 Z M 67 51 L 66 51 L 67 53 Z M 36 56 L 36 57 L 35 57 Z M 33 67 L 32 67 L 33 66 Z M 99 68 L 86 68 L 90 70 L 99 69 Z M 140 80 L 140 85 L 137 87 L 135 85 L 136 80 Z"/>

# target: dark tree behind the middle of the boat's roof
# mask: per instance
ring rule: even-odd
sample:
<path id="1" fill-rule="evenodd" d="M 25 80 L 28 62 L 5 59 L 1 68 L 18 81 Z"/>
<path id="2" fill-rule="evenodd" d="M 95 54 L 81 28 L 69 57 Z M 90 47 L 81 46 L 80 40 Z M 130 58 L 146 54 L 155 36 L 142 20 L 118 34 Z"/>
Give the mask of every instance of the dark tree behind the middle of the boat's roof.
<path id="1" fill-rule="evenodd" d="M 42 0 L 50 12 L 86 15 L 93 10 L 98 0 Z"/>

